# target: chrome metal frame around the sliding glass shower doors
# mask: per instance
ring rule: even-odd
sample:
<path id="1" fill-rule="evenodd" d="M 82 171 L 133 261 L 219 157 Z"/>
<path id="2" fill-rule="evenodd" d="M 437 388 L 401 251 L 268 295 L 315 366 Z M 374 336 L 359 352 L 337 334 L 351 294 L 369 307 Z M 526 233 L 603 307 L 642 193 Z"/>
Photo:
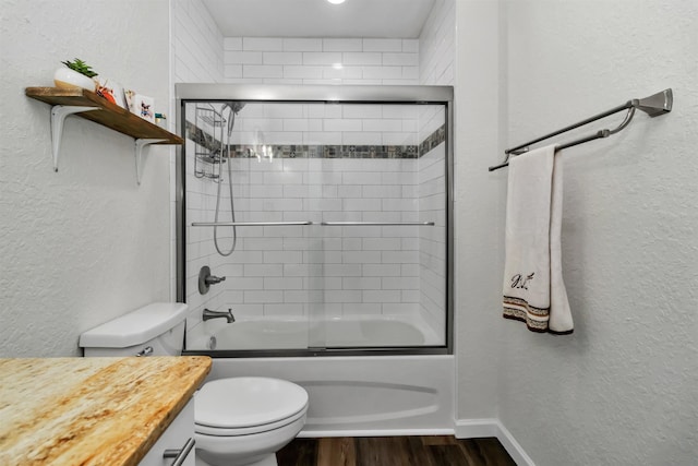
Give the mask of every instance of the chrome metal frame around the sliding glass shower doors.
<path id="1" fill-rule="evenodd" d="M 243 100 L 246 103 L 298 104 L 411 104 L 443 105 L 446 110 L 446 344 L 438 347 L 299 350 L 216 351 L 222 357 L 257 356 L 352 356 L 352 355 L 443 355 L 454 346 L 454 88 L 453 86 L 405 85 L 266 85 L 266 84 L 176 84 L 176 109 L 179 134 L 185 136 L 184 105 L 197 101 Z M 177 300 L 185 300 L 185 205 L 184 146 L 177 150 L 176 230 Z M 209 354 L 186 351 L 188 354 Z"/>

